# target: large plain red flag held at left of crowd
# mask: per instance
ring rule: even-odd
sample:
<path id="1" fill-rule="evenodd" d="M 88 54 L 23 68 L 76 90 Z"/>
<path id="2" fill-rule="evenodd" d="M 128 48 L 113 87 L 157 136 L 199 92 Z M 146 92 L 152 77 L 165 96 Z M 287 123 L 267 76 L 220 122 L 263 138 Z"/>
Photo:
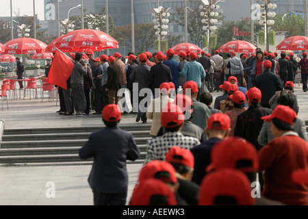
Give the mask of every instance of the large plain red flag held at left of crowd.
<path id="1" fill-rule="evenodd" d="M 59 50 L 55 51 L 53 62 L 49 70 L 47 83 L 55 84 L 63 89 L 67 88 L 66 81 L 74 68 L 73 60 Z"/>

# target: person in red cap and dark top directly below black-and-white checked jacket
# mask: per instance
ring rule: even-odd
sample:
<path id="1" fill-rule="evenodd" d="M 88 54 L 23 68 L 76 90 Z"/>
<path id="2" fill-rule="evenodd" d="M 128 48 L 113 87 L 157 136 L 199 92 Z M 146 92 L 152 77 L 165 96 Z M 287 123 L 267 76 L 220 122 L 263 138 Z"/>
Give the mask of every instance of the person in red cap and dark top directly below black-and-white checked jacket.
<path id="1" fill-rule="evenodd" d="M 173 146 L 166 153 L 166 162 L 169 162 L 176 171 L 179 189 L 177 192 L 183 198 L 187 205 L 198 204 L 199 185 L 192 182 L 192 173 L 194 172 L 194 155 L 180 146 Z"/>

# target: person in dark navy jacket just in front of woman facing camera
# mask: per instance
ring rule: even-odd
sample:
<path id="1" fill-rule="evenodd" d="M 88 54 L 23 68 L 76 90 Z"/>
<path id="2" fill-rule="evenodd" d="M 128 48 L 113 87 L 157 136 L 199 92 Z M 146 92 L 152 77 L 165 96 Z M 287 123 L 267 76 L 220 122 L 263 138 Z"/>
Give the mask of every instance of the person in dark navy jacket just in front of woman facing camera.
<path id="1" fill-rule="evenodd" d="M 270 68 L 272 68 L 272 62 L 266 60 L 263 63 L 263 66 L 264 72 L 261 75 L 255 77 L 255 80 L 253 81 L 253 86 L 261 90 L 261 106 L 270 108 L 270 104 L 268 103 L 268 101 L 270 101 L 272 96 L 274 96 L 277 91 L 283 90 L 283 84 L 281 83 L 281 79 L 279 79 L 277 75 L 270 71 Z"/>

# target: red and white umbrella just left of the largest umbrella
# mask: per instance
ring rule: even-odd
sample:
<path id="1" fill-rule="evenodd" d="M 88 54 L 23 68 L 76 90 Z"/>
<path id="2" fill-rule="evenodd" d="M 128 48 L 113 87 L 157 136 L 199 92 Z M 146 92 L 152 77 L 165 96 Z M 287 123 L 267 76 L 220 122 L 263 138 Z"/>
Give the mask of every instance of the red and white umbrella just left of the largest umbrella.
<path id="1" fill-rule="evenodd" d="M 35 54 L 44 53 L 47 44 L 34 38 L 16 38 L 3 44 L 5 54 Z"/>

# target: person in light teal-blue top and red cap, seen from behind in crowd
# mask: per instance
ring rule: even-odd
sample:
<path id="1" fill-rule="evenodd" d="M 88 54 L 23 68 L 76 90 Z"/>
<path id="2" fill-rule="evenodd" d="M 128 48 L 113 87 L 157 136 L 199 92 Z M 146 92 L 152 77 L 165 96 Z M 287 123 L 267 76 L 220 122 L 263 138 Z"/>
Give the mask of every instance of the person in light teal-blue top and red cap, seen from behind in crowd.
<path id="1" fill-rule="evenodd" d="M 196 62 L 198 55 L 195 52 L 190 53 L 190 62 L 185 64 L 183 70 L 179 73 L 180 76 L 186 76 L 186 81 L 195 81 L 198 85 L 198 94 L 196 100 L 200 96 L 201 81 L 205 78 L 206 73 L 203 66 Z"/>

